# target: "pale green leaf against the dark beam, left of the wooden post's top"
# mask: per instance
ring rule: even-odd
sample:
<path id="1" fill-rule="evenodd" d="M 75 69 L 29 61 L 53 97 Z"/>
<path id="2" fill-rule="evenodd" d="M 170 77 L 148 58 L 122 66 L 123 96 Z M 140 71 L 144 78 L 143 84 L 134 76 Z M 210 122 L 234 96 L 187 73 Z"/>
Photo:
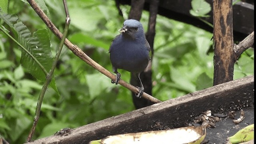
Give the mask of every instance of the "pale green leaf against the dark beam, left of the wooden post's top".
<path id="1" fill-rule="evenodd" d="M 191 1 L 192 10 L 190 14 L 196 17 L 209 17 L 208 14 L 211 11 L 211 5 L 205 0 L 192 0 Z"/>

